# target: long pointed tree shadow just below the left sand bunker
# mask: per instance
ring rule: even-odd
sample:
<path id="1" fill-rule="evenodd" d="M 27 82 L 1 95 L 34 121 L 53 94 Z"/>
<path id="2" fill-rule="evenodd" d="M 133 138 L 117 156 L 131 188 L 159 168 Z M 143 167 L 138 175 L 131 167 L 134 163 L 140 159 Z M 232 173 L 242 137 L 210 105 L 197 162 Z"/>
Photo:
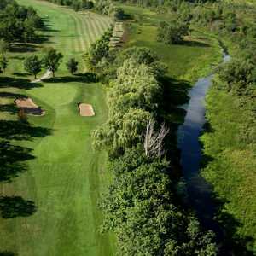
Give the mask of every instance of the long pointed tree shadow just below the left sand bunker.
<path id="1" fill-rule="evenodd" d="M 51 129 L 31 126 L 26 122 L 0 120 L 0 137 L 5 140 L 32 140 L 33 137 L 45 137 Z"/>

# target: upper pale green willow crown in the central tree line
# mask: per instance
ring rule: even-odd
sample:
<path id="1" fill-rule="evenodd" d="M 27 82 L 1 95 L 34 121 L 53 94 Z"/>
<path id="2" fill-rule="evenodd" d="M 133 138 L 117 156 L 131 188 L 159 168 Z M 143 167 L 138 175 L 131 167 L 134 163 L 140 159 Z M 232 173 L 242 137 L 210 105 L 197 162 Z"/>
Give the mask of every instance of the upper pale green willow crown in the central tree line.
<path id="1" fill-rule="evenodd" d="M 153 70 L 128 59 L 119 67 L 117 79 L 109 93 L 110 112 L 125 113 L 129 108 L 154 111 L 160 95 L 161 88 Z"/>

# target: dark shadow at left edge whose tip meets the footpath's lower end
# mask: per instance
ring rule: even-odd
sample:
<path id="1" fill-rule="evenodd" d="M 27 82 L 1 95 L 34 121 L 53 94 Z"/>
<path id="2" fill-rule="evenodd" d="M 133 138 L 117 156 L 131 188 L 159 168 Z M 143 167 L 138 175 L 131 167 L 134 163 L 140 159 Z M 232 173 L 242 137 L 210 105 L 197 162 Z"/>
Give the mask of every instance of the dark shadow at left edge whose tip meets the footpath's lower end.
<path id="1" fill-rule="evenodd" d="M 29 79 L 17 79 L 11 77 L 0 77 L 0 88 L 15 87 L 19 89 L 30 90 L 32 88 L 42 87 L 42 84 L 31 83 Z"/>

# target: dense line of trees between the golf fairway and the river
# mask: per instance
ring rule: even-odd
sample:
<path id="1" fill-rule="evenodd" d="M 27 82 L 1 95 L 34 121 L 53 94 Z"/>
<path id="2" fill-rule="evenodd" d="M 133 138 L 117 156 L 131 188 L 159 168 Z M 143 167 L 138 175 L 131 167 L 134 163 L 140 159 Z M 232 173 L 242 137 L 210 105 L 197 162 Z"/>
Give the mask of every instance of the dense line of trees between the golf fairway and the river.
<path id="1" fill-rule="evenodd" d="M 94 148 L 108 150 L 113 173 L 102 232 L 113 230 L 119 255 L 217 255 L 212 231 L 177 200 L 166 160 L 168 127 L 159 125 L 166 65 L 148 48 L 119 51 L 108 42 L 107 32 L 85 56 L 109 87 L 108 121 L 92 134 Z"/>

